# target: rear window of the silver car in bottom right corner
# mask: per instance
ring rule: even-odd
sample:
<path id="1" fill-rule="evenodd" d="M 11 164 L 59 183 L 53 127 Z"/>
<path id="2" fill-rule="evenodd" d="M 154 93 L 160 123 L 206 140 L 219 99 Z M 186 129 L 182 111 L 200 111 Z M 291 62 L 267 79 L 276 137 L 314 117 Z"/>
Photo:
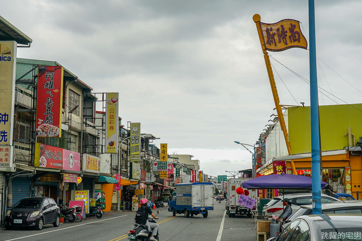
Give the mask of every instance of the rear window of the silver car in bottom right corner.
<path id="1" fill-rule="evenodd" d="M 362 241 L 362 228 L 322 229 L 323 241 Z"/>

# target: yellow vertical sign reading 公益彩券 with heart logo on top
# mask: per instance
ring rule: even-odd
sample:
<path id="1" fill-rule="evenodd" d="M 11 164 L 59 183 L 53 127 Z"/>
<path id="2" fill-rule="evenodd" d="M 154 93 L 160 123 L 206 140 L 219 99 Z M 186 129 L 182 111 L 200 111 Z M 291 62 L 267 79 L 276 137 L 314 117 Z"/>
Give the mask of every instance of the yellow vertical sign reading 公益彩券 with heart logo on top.
<path id="1" fill-rule="evenodd" d="M 118 152 L 118 93 L 106 93 L 106 153 Z"/>

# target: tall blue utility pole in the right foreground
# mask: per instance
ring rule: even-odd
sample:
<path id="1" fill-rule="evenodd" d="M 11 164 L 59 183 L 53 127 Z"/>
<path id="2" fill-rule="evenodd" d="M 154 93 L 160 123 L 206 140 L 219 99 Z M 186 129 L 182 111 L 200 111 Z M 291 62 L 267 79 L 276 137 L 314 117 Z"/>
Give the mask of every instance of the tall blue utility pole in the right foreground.
<path id="1" fill-rule="evenodd" d="M 312 154 L 312 199 L 313 214 L 322 213 L 320 184 L 320 130 L 317 86 L 316 31 L 314 0 L 308 0 L 309 13 L 309 77 L 311 92 L 311 154 Z"/>

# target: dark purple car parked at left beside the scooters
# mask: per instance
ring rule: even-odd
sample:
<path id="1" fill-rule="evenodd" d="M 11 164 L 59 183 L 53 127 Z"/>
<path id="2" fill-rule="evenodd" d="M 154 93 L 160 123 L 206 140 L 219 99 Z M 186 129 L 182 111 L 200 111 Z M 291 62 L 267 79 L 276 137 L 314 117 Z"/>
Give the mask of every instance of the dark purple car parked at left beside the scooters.
<path id="1" fill-rule="evenodd" d="M 54 199 L 46 197 L 24 198 L 5 216 L 5 229 L 34 227 L 41 230 L 45 224 L 59 226 L 60 212 Z"/>

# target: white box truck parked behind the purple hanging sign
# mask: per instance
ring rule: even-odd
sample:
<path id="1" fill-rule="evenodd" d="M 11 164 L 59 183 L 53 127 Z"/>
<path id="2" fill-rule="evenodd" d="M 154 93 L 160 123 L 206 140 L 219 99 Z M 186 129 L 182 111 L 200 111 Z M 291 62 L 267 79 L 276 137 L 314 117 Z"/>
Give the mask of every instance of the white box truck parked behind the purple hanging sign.
<path id="1" fill-rule="evenodd" d="M 251 178 L 230 178 L 227 180 L 227 198 L 225 209 L 227 210 L 226 213 L 230 218 L 234 218 L 235 214 L 247 215 L 249 218 L 251 218 L 251 209 L 237 203 L 240 195 L 236 193 L 236 189 L 240 188 L 244 181 L 248 181 L 250 179 Z M 250 190 L 249 197 L 256 199 L 256 191 Z"/>

